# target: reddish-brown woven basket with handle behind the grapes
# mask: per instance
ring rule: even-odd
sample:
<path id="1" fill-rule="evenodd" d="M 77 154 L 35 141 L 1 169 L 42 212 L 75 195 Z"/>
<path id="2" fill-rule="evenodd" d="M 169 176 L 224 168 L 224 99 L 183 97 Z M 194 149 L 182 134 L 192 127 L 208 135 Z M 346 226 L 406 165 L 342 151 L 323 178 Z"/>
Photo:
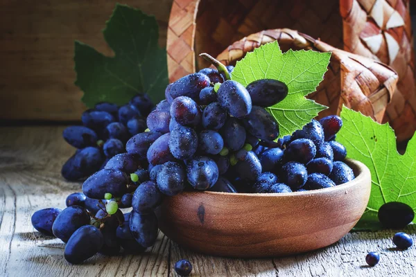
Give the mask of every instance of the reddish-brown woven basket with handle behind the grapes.
<path id="1" fill-rule="evenodd" d="M 383 9 L 379 8 L 379 2 L 383 2 Z M 389 6 L 385 6 L 386 3 Z M 361 11 L 369 10 L 367 15 L 374 15 L 378 21 L 376 14 L 383 12 L 384 28 L 392 15 L 397 19 L 394 10 L 397 10 L 404 19 L 404 26 L 388 28 L 383 33 L 384 39 L 381 42 L 384 45 L 388 40 L 391 44 L 390 37 L 385 39 L 385 33 L 392 33 L 391 37 L 398 42 L 406 37 L 408 43 L 399 43 L 399 54 L 396 55 L 395 62 L 390 63 L 385 60 L 385 53 L 388 51 L 386 52 L 387 48 L 383 45 L 375 54 L 369 54 L 371 44 L 368 46 L 363 43 L 365 40 L 363 37 L 369 36 L 367 35 L 369 30 L 374 31 L 374 28 L 369 27 L 372 26 L 374 19 L 359 12 L 358 8 L 361 8 Z M 173 81 L 195 72 L 196 69 L 208 66 L 207 62 L 200 59 L 196 53 L 207 52 L 216 56 L 233 42 L 248 37 L 244 42 L 245 48 L 235 44 L 231 46 L 235 48 L 234 53 L 236 49 L 242 49 L 241 53 L 245 53 L 246 50 L 251 51 L 261 43 L 269 42 L 270 39 L 279 39 L 272 35 L 273 32 L 281 33 L 279 30 L 270 30 L 263 32 L 263 37 L 259 37 L 260 34 L 257 34 L 259 31 L 279 27 L 293 28 L 311 37 L 319 37 L 333 46 L 332 48 L 314 39 L 306 39 L 311 45 L 304 45 L 304 48 L 318 49 L 325 46 L 318 50 L 329 51 L 328 49 L 331 48 L 333 49 L 331 51 L 337 52 L 336 57 L 333 55 L 331 72 L 327 73 L 324 84 L 312 95 L 312 98 L 318 102 L 331 107 L 329 111 L 322 114 L 339 111 L 340 105 L 345 102 L 347 106 L 363 111 L 364 114 L 372 116 L 379 122 L 389 120 L 396 130 L 398 139 L 408 139 L 416 129 L 416 113 L 413 109 L 416 107 L 416 90 L 413 89 L 415 84 L 413 71 L 409 70 L 413 69 L 413 51 L 408 8 L 408 1 L 404 0 L 174 0 L 168 26 L 169 78 Z M 390 22 L 388 26 L 394 25 Z M 286 34 L 291 32 L 293 31 L 286 32 Z M 255 34 L 250 35 L 253 33 Z M 307 37 L 300 33 L 298 35 Z M 252 46 L 250 46 L 251 42 Z M 239 43 L 242 44 L 242 42 Z M 398 89 L 395 89 L 397 76 L 390 71 L 388 66 L 349 55 L 337 48 L 345 48 L 347 51 L 372 57 L 374 60 L 388 62 L 393 69 L 397 70 L 401 78 Z M 234 53 L 233 55 L 236 55 Z M 231 62 L 236 58 L 230 56 L 224 60 Z M 365 72 L 367 68 L 365 78 L 361 74 L 348 74 L 348 71 L 343 70 L 344 64 L 346 70 L 353 69 L 352 72 L 355 73 Z M 333 77 L 330 78 L 329 74 Z M 333 78 L 336 82 L 327 81 Z M 347 86 L 349 83 L 355 83 L 358 92 L 352 91 L 354 89 Z M 410 85 L 412 88 L 404 89 L 404 84 L 407 84 L 406 88 Z M 342 86 L 346 86 L 346 90 Z M 351 98 L 350 93 L 352 93 Z M 392 100 L 392 103 L 388 105 L 385 112 L 388 100 Z M 372 111 L 369 103 L 371 103 Z"/>

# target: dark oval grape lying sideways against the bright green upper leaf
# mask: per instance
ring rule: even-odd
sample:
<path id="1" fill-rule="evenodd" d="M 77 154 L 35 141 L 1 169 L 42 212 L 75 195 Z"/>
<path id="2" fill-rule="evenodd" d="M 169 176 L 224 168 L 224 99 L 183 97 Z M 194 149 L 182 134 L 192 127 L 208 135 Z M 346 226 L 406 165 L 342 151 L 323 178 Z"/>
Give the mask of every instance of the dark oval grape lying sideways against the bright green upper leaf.
<path id="1" fill-rule="evenodd" d="M 252 99 L 252 105 L 270 107 L 277 104 L 288 95 L 288 86 L 274 79 L 261 79 L 245 87 Z"/>

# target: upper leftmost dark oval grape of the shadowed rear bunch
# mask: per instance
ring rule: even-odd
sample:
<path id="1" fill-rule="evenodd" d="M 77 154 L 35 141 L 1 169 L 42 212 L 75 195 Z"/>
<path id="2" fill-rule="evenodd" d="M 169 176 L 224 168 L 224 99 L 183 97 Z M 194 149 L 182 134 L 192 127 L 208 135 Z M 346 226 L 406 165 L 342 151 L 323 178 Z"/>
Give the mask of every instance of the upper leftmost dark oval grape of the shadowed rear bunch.
<path id="1" fill-rule="evenodd" d="M 96 146 L 98 140 L 96 132 L 84 126 L 69 126 L 64 129 L 62 136 L 67 143 L 78 149 Z"/>

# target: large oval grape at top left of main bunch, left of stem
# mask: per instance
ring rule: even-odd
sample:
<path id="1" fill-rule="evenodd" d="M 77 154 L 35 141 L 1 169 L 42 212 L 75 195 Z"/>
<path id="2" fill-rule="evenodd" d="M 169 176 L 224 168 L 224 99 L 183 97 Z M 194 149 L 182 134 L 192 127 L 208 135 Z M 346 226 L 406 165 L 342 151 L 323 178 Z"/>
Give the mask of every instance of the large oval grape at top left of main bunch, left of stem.
<path id="1" fill-rule="evenodd" d="M 180 96 L 187 96 L 198 100 L 201 89 L 209 87 L 210 80 L 207 75 L 193 73 L 186 75 L 171 84 L 169 93 L 173 99 Z"/>

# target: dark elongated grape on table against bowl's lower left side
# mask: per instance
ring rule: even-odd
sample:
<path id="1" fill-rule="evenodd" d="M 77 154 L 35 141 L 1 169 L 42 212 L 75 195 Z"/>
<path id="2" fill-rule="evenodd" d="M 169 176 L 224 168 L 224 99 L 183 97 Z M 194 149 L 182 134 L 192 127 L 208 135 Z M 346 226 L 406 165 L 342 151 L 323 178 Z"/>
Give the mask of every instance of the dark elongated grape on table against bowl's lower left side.
<path id="1" fill-rule="evenodd" d="M 130 213 L 130 231 L 142 247 L 151 247 L 157 238 L 157 217 L 154 213 Z"/>

